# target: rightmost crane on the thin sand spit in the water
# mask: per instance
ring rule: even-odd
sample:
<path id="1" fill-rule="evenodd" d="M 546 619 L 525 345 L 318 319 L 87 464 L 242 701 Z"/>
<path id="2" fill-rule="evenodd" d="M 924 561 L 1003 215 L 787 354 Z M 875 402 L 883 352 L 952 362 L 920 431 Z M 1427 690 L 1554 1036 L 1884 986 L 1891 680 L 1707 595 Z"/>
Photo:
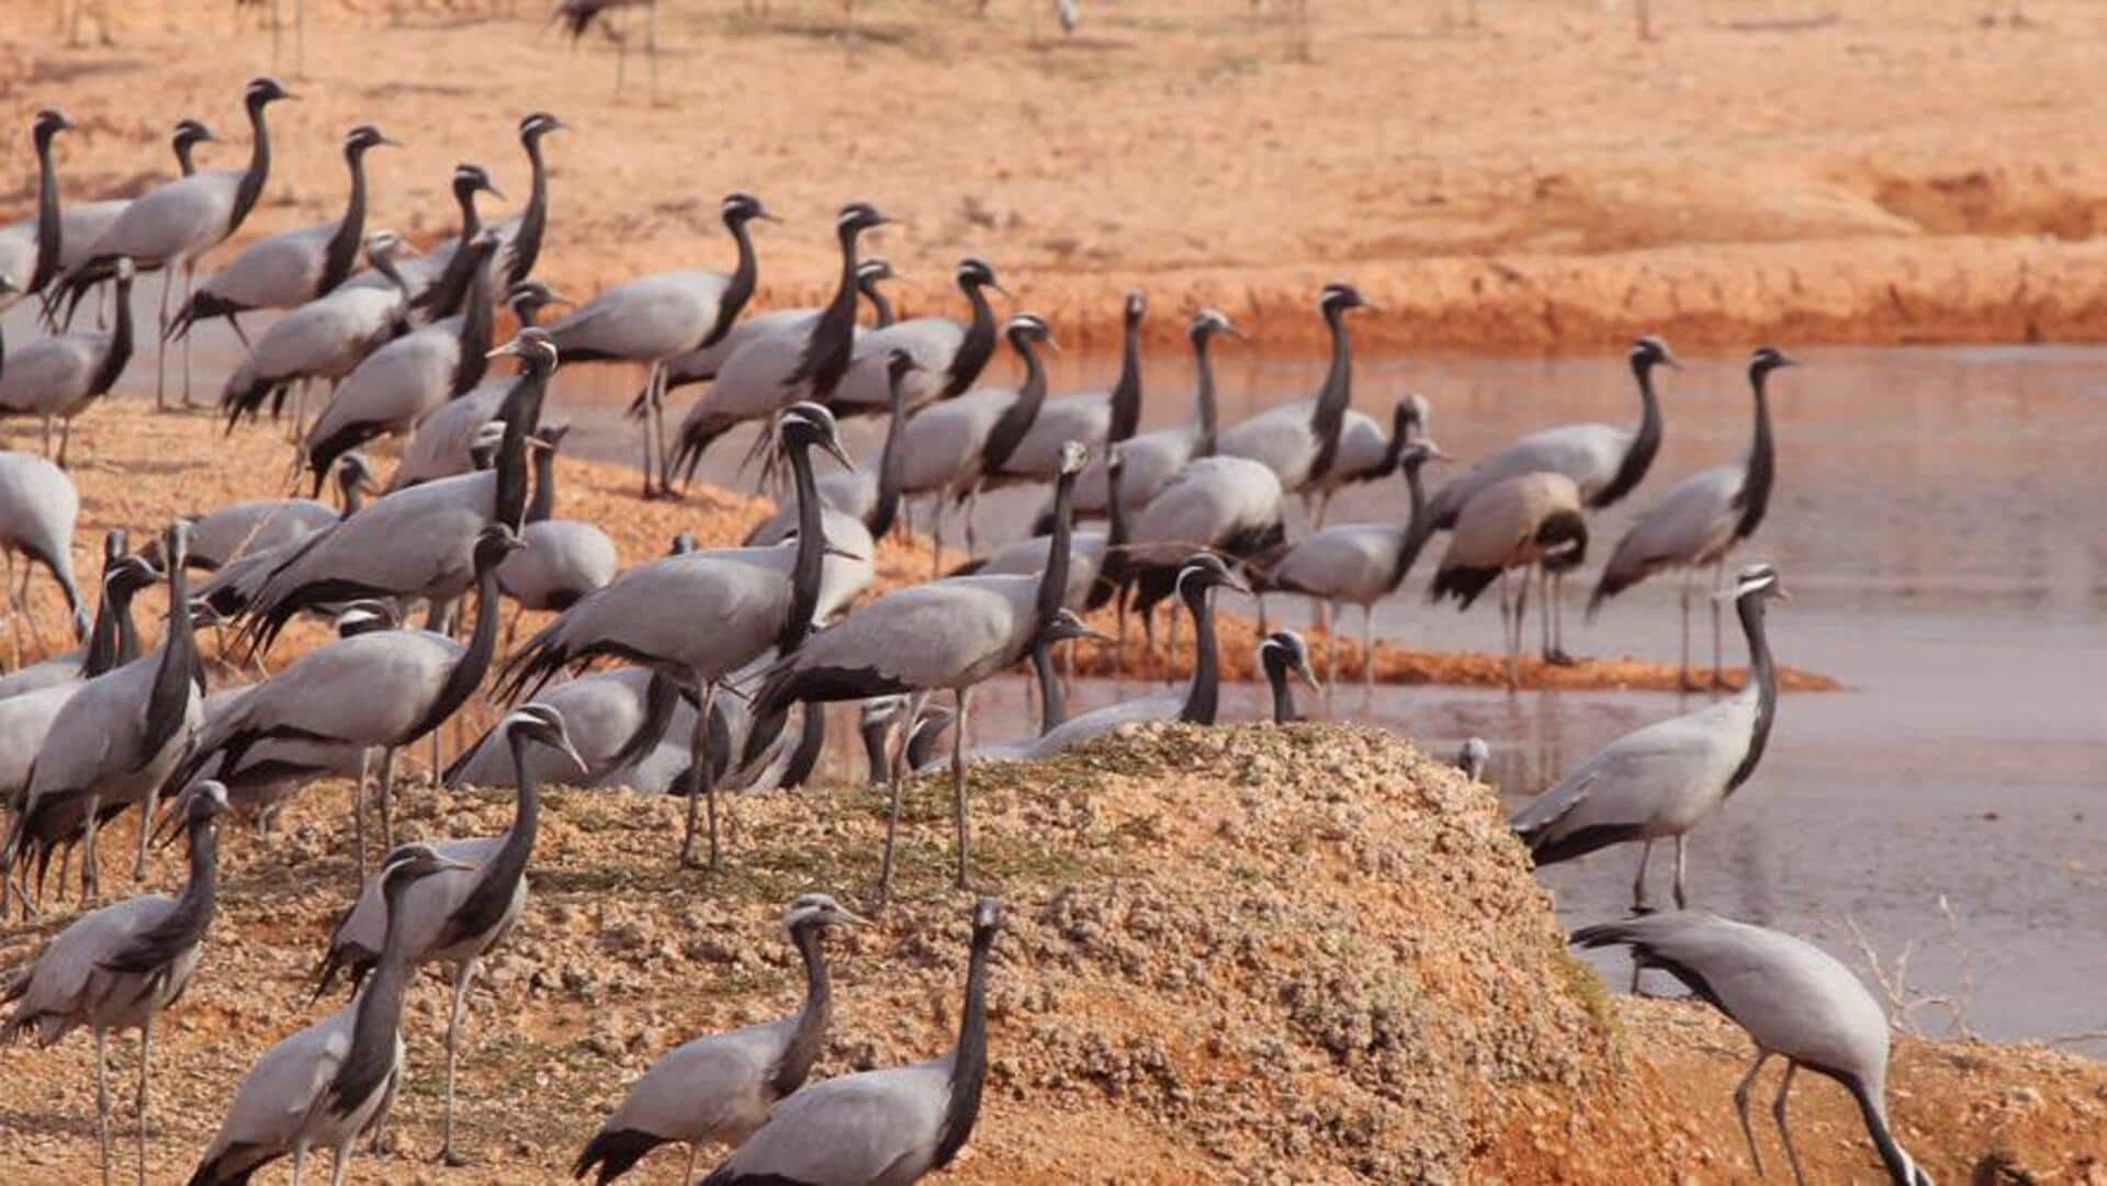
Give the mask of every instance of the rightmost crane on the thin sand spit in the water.
<path id="1" fill-rule="evenodd" d="M 1749 453 L 1740 461 L 1698 470 L 1681 482 L 1669 487 L 1654 506 L 1639 512 L 1639 518 L 1616 541 L 1610 562 L 1601 569 L 1601 579 L 1587 600 L 1589 617 L 1601 611 L 1601 602 L 1665 571 L 1683 571 L 1683 649 L 1681 683 L 1694 689 L 1690 678 L 1690 577 L 1705 565 L 1713 567 L 1713 588 L 1724 586 L 1726 558 L 1745 539 L 1755 535 L 1770 510 L 1770 493 L 1778 482 L 1778 447 L 1770 430 L 1770 375 L 1780 367 L 1795 367 L 1791 358 L 1772 345 L 1749 356 L 1749 388 L 1755 394 L 1755 430 Z M 1719 643 L 1719 602 L 1713 602 L 1713 687 L 1726 683 Z"/>

